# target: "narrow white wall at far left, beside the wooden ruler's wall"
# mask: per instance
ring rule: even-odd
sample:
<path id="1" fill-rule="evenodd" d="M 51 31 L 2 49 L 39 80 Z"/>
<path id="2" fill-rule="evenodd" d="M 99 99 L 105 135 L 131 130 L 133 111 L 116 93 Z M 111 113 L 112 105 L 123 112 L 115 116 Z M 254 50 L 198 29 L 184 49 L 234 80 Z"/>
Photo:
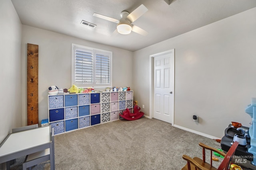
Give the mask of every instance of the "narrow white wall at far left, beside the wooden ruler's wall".
<path id="1" fill-rule="evenodd" d="M 10 0 L 0 1 L 0 143 L 21 122 L 22 24 Z"/>

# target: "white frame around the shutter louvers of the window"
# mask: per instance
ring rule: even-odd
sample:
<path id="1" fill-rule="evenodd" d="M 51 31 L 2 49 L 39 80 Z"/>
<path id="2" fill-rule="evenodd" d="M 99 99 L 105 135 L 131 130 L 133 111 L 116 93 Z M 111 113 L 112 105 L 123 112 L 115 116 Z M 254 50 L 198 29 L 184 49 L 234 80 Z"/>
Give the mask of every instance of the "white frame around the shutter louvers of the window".
<path id="1" fill-rule="evenodd" d="M 76 82 L 76 49 L 84 49 L 84 51 L 92 51 L 92 71 L 93 79 L 92 83 L 77 83 Z M 96 83 L 96 54 L 98 55 L 109 55 L 109 83 Z M 94 88 L 106 88 L 112 87 L 112 51 L 106 51 L 102 49 L 96 49 L 92 47 L 87 47 L 83 45 L 77 45 L 72 43 L 72 72 L 71 72 L 71 85 L 76 85 L 81 88 L 94 87 Z"/>

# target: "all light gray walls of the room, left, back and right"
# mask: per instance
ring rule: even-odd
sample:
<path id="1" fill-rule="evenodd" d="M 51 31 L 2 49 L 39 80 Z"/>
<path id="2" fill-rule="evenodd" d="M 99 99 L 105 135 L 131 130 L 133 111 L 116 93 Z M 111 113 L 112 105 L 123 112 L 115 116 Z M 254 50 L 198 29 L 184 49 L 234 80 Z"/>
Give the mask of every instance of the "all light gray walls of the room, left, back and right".
<path id="1" fill-rule="evenodd" d="M 71 44 L 76 43 L 113 51 L 113 86 L 131 86 L 146 115 L 149 56 L 175 49 L 174 124 L 220 138 L 230 121 L 249 126 L 251 118 L 244 108 L 256 96 L 255 16 L 253 8 L 132 53 L 21 25 L 11 1 L 2 0 L 0 141 L 12 128 L 26 125 L 27 43 L 39 45 L 39 121 L 48 117 L 48 87 L 71 86 Z M 199 124 L 192 121 L 194 114 L 200 117 Z"/>

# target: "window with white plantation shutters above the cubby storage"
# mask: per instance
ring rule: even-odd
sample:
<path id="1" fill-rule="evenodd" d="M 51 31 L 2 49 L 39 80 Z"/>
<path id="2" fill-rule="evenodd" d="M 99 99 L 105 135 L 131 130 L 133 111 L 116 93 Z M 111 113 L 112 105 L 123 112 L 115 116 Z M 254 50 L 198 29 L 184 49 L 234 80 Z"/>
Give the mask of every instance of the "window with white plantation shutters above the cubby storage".
<path id="1" fill-rule="evenodd" d="M 112 86 L 112 52 L 72 44 L 72 84 Z"/>

